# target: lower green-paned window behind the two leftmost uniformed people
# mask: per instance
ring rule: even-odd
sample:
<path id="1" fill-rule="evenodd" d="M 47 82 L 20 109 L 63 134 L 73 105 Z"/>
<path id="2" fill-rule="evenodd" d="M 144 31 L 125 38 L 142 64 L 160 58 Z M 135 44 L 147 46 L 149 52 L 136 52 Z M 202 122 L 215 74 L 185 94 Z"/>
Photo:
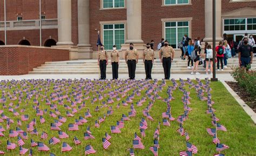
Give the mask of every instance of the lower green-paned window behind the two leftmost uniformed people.
<path id="1" fill-rule="evenodd" d="M 103 44 L 106 50 L 111 50 L 113 45 L 121 49 L 124 44 L 125 31 L 124 24 L 104 24 L 103 25 Z"/>

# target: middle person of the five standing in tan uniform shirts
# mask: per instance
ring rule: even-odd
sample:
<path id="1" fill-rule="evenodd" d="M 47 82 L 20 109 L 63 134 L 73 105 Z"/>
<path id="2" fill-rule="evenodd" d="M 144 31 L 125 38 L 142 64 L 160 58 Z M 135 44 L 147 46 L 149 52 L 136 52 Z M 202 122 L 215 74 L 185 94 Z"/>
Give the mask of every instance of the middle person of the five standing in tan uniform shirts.
<path id="1" fill-rule="evenodd" d="M 133 49 L 133 43 L 130 43 L 130 49 L 125 52 L 125 62 L 128 66 L 129 78 L 135 78 L 136 64 L 138 63 L 139 54 L 136 49 Z"/>

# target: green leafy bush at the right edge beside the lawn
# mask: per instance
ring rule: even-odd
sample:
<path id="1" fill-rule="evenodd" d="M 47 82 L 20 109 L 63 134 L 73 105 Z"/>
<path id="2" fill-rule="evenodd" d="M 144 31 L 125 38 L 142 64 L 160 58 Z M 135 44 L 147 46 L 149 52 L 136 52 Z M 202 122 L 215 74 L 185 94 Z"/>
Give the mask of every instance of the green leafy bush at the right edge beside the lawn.
<path id="1" fill-rule="evenodd" d="M 244 67 L 233 67 L 231 76 L 250 94 L 252 100 L 256 100 L 256 71 L 246 70 Z"/>

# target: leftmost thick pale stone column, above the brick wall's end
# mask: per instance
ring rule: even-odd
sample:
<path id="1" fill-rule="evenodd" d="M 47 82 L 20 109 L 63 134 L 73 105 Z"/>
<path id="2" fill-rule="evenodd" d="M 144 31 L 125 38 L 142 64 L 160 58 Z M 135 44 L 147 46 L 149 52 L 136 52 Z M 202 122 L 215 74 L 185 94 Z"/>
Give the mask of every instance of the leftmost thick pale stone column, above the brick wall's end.
<path id="1" fill-rule="evenodd" d="M 58 42 L 57 45 L 73 45 L 71 0 L 58 0 Z"/>

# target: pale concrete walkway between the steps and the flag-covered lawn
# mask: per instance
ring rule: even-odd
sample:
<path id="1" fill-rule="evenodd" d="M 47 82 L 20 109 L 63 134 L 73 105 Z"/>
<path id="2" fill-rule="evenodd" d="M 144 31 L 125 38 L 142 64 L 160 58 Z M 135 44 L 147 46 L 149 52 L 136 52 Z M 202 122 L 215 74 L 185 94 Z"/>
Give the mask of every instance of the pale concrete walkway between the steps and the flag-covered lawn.
<path id="1" fill-rule="evenodd" d="M 107 79 L 112 79 L 112 74 L 106 75 Z M 211 78 L 212 76 L 210 74 L 200 74 L 200 75 L 191 75 L 191 74 L 171 74 L 171 78 L 174 79 L 205 79 L 206 77 Z M 221 81 L 234 81 L 234 79 L 231 77 L 229 73 L 223 73 L 223 74 L 217 74 L 216 77 Z M 25 74 L 21 76 L 0 76 L 0 80 L 22 80 L 22 79 L 80 79 L 80 78 L 88 78 L 88 79 L 98 79 L 98 74 Z M 120 79 L 127 79 L 127 74 L 119 74 Z M 145 74 L 136 74 L 136 79 L 144 79 Z M 164 78 L 164 74 L 152 74 L 153 79 L 162 79 Z"/>

